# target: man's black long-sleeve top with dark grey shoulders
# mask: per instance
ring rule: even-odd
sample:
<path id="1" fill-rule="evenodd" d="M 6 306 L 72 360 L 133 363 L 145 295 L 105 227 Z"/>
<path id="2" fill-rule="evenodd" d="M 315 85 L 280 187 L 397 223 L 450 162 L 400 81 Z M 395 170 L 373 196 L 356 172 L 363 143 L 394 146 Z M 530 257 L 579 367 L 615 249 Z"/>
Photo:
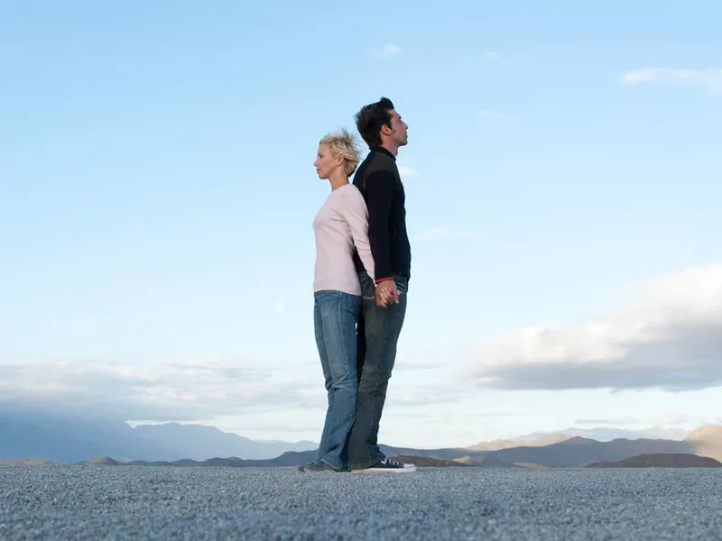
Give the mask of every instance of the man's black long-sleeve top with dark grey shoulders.
<path id="1" fill-rule="evenodd" d="M 376 282 L 394 274 L 411 277 L 411 245 L 406 233 L 406 195 L 396 158 L 383 147 L 370 149 L 354 176 L 368 208 L 368 241 L 374 257 Z M 354 255 L 356 269 L 363 269 Z"/>

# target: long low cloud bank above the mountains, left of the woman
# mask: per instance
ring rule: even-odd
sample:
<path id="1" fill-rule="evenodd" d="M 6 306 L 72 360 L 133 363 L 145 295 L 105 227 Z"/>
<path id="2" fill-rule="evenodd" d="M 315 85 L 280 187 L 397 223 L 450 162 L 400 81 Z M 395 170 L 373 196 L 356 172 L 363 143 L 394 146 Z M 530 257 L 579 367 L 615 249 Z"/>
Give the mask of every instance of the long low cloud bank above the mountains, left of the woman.
<path id="1" fill-rule="evenodd" d="M 88 360 L 0 364 L 3 403 L 118 419 L 197 420 L 303 408 L 325 393 L 318 363 L 205 358 L 137 365 Z"/>

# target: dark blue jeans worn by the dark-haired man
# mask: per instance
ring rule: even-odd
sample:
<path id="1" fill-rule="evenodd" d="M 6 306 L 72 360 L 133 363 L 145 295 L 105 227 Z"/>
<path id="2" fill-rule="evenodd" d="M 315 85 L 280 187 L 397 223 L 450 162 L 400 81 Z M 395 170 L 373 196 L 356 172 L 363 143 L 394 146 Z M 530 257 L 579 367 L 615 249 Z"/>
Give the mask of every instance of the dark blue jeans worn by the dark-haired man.
<path id="1" fill-rule="evenodd" d="M 358 321 L 358 399 L 356 423 L 348 442 L 348 461 L 352 469 L 364 469 L 381 462 L 378 429 L 384 410 L 386 389 L 396 360 L 396 344 L 406 315 L 408 280 L 395 277 L 399 304 L 377 307 L 375 286 L 365 271 L 358 273 L 364 298 Z"/>

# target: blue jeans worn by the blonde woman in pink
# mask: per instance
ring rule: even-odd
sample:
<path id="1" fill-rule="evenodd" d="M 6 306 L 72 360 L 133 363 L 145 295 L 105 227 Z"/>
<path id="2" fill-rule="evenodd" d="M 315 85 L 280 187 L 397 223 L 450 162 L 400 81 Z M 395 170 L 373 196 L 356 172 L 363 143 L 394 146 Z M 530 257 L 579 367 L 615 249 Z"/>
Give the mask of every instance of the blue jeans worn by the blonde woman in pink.
<path id="1" fill-rule="evenodd" d="M 361 297 L 343 291 L 314 293 L 313 320 L 329 407 L 319 443 L 319 461 L 348 471 L 348 435 L 356 417 L 356 322 Z"/>

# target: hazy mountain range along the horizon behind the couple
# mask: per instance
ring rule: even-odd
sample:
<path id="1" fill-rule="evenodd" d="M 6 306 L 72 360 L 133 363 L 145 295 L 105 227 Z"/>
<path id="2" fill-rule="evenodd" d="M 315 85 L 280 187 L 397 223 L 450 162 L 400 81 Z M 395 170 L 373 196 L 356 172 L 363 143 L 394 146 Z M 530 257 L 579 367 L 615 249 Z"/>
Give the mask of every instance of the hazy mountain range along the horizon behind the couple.
<path id="1" fill-rule="evenodd" d="M 389 456 L 404 457 L 420 465 L 442 466 L 583 467 L 643 454 L 696 454 L 722 460 L 722 426 L 700 427 L 683 439 L 640 437 L 650 431 L 635 434 L 609 428 L 581 432 L 592 435 L 597 431 L 613 438 L 600 441 L 571 436 L 575 430 L 579 429 L 481 442 L 468 447 L 381 447 Z M 684 436 L 680 431 L 654 429 L 652 432 L 660 434 L 660 431 Z M 615 437 L 619 434 L 626 437 Z M 11 462 L 87 463 L 97 457 L 111 457 L 97 463 L 294 466 L 314 460 L 316 448 L 317 444 L 308 441 L 259 442 L 214 426 L 167 423 L 131 427 L 125 422 L 88 417 L 0 412 L 0 459 Z"/>

